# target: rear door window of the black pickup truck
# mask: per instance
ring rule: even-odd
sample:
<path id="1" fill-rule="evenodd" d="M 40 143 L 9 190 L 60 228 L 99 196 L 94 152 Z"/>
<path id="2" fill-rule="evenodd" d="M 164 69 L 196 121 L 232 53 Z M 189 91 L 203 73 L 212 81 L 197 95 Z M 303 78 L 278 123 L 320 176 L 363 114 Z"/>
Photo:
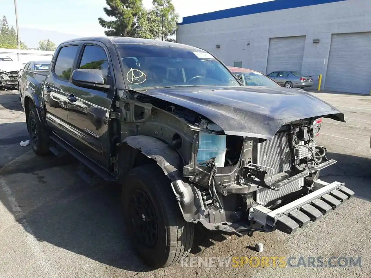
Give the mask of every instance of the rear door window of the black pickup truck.
<path id="1" fill-rule="evenodd" d="M 73 61 L 79 50 L 79 46 L 64 46 L 60 49 L 54 66 L 54 73 L 60 79 L 69 80 L 71 75 Z"/>

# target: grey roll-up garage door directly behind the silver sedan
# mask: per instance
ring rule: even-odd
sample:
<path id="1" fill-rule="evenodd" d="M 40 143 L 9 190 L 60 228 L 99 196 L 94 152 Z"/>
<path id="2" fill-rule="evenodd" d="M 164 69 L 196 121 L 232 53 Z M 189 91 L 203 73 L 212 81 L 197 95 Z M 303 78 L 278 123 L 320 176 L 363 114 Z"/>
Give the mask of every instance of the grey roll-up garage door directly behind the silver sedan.
<path id="1" fill-rule="evenodd" d="M 303 64 L 305 36 L 269 39 L 267 72 L 275 70 L 301 71 Z"/>

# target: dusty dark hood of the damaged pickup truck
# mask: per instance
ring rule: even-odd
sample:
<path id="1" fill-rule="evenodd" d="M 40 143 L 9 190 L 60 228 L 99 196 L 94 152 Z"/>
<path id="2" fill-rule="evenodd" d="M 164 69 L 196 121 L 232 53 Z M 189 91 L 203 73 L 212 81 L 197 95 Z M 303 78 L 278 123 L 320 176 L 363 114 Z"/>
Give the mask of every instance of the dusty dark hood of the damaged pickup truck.
<path id="1" fill-rule="evenodd" d="M 312 117 L 345 122 L 334 106 L 301 89 L 281 87 L 164 87 L 136 92 L 193 110 L 228 135 L 270 140 L 286 123 Z"/>

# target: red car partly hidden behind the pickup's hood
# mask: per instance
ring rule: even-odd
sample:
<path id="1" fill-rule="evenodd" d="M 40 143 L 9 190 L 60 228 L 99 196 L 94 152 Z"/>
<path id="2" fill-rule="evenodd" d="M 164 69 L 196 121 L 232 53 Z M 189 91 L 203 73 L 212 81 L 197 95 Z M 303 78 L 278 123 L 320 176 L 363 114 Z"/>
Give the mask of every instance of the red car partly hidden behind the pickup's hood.
<path id="1" fill-rule="evenodd" d="M 263 73 L 242 67 L 228 67 L 244 86 L 281 87 Z"/>

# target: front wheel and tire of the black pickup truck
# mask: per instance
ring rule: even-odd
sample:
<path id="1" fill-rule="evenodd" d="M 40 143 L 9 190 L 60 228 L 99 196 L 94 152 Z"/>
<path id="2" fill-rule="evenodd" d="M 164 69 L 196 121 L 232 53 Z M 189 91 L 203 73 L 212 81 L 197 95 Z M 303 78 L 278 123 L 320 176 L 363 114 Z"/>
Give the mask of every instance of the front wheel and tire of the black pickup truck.
<path id="1" fill-rule="evenodd" d="M 170 180 L 157 164 L 132 169 L 123 182 L 121 200 L 126 229 L 145 264 L 168 267 L 188 255 L 193 244 L 194 224 L 184 221 Z M 140 207 L 140 203 L 145 206 Z M 135 220 L 142 226 L 135 225 Z M 144 222 L 147 232 L 142 234 Z"/>

